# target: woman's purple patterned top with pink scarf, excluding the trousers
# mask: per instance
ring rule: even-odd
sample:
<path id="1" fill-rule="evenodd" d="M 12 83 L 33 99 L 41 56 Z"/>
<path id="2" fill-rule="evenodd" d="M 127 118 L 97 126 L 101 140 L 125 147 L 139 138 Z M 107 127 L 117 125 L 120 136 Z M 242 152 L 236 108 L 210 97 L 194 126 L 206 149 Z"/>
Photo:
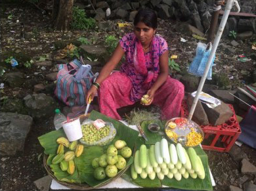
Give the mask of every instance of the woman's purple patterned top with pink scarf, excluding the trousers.
<path id="1" fill-rule="evenodd" d="M 154 36 L 150 51 L 146 54 L 143 53 L 147 70 L 145 71 L 144 66 L 138 63 L 141 58 L 135 60 L 143 51 L 142 45 L 135 34 L 128 33 L 120 39 L 119 43 L 123 51 L 125 51 L 125 62 L 121 66 L 121 72 L 127 74 L 133 83 L 130 98 L 135 102 L 146 94 L 158 78 L 158 73 L 160 72 L 159 57 L 168 50 L 168 46 L 165 39 L 160 36 Z M 138 47 L 139 50 L 137 49 Z M 143 58 L 140 62 L 144 62 Z"/>

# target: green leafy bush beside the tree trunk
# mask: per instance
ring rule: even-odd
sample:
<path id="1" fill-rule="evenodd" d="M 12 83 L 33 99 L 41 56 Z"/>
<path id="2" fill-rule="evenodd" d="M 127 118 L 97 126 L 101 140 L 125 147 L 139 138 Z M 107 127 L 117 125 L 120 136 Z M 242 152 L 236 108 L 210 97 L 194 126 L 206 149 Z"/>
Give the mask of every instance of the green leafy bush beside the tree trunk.
<path id="1" fill-rule="evenodd" d="M 74 30 L 85 30 L 90 28 L 95 28 L 96 20 L 93 18 L 87 18 L 85 11 L 79 9 L 79 7 L 73 8 L 73 17 L 71 28 Z"/>

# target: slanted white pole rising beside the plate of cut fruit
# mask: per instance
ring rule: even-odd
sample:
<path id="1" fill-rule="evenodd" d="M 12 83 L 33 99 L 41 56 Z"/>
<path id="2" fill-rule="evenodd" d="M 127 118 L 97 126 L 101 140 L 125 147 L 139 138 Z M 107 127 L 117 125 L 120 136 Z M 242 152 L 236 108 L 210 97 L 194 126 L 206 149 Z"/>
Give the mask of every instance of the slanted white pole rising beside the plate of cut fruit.
<path id="1" fill-rule="evenodd" d="M 191 106 L 191 109 L 190 109 L 190 112 L 189 112 L 189 115 L 188 115 L 188 119 L 190 119 L 190 120 L 192 119 L 192 116 L 194 114 L 196 104 L 198 103 L 199 95 L 202 92 L 203 84 L 205 82 L 206 76 L 207 76 L 207 74 L 209 72 L 209 68 L 211 66 L 211 61 L 213 60 L 213 57 L 214 57 L 214 55 L 216 53 L 216 50 L 217 50 L 217 47 L 219 45 L 219 41 L 221 39 L 221 35 L 223 34 L 223 30 L 224 30 L 224 27 L 226 25 L 226 20 L 228 20 L 228 15 L 230 13 L 230 10 L 232 9 L 232 6 L 235 5 L 235 2 L 237 2 L 237 1 L 236 0 L 228 0 L 228 2 L 226 3 L 225 11 L 224 11 L 224 14 L 223 14 L 223 18 L 221 19 L 221 24 L 219 26 L 219 30 L 218 30 L 217 35 L 215 37 L 213 47 L 211 49 L 211 53 L 210 53 L 209 58 L 207 60 L 205 70 L 203 72 L 203 76 L 201 78 L 200 84 L 198 86 L 198 90 L 196 92 L 196 96 L 193 100 L 193 103 L 192 103 L 192 106 Z M 237 3 L 236 3 L 236 6 L 239 7 L 239 5 Z M 238 9 L 238 10 L 240 10 L 240 9 Z"/>

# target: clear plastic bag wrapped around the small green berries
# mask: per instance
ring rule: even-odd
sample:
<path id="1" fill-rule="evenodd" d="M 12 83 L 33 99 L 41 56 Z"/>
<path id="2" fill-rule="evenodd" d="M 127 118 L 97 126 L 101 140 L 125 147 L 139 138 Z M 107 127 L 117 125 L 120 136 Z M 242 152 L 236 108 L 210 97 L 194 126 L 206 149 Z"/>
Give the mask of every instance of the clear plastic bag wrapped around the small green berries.
<path id="1" fill-rule="evenodd" d="M 116 137 L 116 128 L 114 127 L 114 125 L 110 122 L 105 122 L 106 125 L 105 127 L 108 125 L 110 127 L 110 131 L 108 133 L 108 135 L 96 142 L 86 142 L 85 140 L 83 140 L 83 137 L 79 139 L 79 141 L 82 144 L 88 145 L 88 146 L 104 146 L 108 143 L 110 143 L 115 137 Z M 85 119 L 85 121 L 83 121 L 83 123 L 81 124 L 82 127 L 82 131 L 83 131 L 83 125 L 87 125 L 87 124 L 93 124 L 93 121 L 91 119 Z M 104 127 L 102 127 L 104 128 Z M 95 128 L 96 129 L 96 128 Z M 85 133 L 89 133 L 89 132 L 83 132 L 83 135 L 85 135 Z"/>

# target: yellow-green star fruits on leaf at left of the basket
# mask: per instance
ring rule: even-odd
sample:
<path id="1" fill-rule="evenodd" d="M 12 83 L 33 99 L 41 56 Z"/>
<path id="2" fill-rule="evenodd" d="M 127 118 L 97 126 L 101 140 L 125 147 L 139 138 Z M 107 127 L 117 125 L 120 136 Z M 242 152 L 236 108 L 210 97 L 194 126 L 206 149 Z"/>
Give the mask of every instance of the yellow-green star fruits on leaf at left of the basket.
<path id="1" fill-rule="evenodd" d="M 75 171 L 74 158 L 83 154 L 83 145 L 77 144 L 77 140 L 70 142 L 65 137 L 57 138 L 58 149 L 51 163 L 59 164 L 62 171 L 72 175 Z M 67 150 L 65 152 L 65 150 Z"/>

